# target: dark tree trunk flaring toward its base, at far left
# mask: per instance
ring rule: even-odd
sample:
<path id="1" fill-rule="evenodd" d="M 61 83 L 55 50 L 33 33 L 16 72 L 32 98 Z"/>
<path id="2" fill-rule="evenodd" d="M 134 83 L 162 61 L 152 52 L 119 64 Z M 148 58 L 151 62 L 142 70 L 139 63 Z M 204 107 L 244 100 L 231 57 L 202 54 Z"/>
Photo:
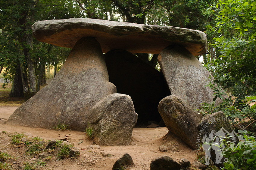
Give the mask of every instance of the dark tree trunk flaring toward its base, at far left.
<path id="1" fill-rule="evenodd" d="M 23 83 L 21 78 L 20 63 L 17 63 L 14 80 L 11 87 L 10 97 L 24 97 Z"/>

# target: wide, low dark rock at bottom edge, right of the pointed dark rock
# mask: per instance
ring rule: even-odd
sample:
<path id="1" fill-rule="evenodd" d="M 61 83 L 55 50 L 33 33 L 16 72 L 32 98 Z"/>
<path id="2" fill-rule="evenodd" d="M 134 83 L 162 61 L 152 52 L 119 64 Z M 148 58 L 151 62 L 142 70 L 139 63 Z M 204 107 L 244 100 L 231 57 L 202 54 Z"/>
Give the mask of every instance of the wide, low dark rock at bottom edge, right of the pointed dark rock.
<path id="1" fill-rule="evenodd" d="M 171 157 L 161 156 L 155 158 L 150 163 L 150 170 L 180 170 L 181 165 Z"/>

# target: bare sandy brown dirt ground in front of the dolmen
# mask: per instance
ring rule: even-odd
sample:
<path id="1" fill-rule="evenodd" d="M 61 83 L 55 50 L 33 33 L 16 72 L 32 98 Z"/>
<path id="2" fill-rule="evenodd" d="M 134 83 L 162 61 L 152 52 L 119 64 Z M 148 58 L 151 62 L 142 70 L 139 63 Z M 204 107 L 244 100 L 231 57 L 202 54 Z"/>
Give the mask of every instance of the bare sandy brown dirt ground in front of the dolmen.
<path id="1" fill-rule="evenodd" d="M 0 119 L 7 120 L 8 117 L 17 109 L 16 106 L 0 106 Z M 1 120 L 0 120 L 1 121 Z M 6 131 L 7 133 L 3 133 Z M 160 156 L 170 156 L 173 160 L 179 161 L 181 158 L 188 159 L 191 163 L 196 159 L 196 151 L 188 147 L 180 138 L 168 133 L 166 127 L 158 128 L 144 128 L 135 127 L 133 129 L 133 145 L 129 146 L 100 146 L 100 149 L 89 149 L 88 146 L 93 142 L 86 138 L 84 132 L 73 130 L 57 131 L 40 128 L 11 126 L 0 124 L 0 150 L 7 150 L 9 154 L 19 159 L 14 161 L 13 164 L 21 164 L 24 161 L 32 161 L 33 158 L 24 156 L 23 150 L 11 144 L 11 134 L 29 132 L 33 137 L 43 138 L 45 141 L 50 139 L 63 139 L 68 138 L 68 141 L 73 143 L 75 147 L 80 150 L 80 156 L 76 158 L 68 158 L 64 160 L 51 160 L 47 162 L 46 167 L 40 169 L 55 169 L 55 170 L 105 170 L 112 169 L 115 161 L 123 154 L 128 153 L 131 155 L 134 166 L 127 169 L 130 170 L 145 170 L 150 169 L 150 162 L 154 158 Z M 82 142 L 83 141 L 83 142 Z M 82 143 L 81 143 L 82 142 Z M 172 144 L 175 145 L 176 151 L 160 152 L 161 145 Z M 109 156 L 103 157 L 102 153 Z M 111 156 L 110 156 L 111 155 Z M 22 158 L 22 159 L 21 159 Z M 14 166 L 14 165 L 13 165 Z M 22 168 L 20 168 L 22 169 Z M 39 168 L 38 168 L 39 169 Z"/>

